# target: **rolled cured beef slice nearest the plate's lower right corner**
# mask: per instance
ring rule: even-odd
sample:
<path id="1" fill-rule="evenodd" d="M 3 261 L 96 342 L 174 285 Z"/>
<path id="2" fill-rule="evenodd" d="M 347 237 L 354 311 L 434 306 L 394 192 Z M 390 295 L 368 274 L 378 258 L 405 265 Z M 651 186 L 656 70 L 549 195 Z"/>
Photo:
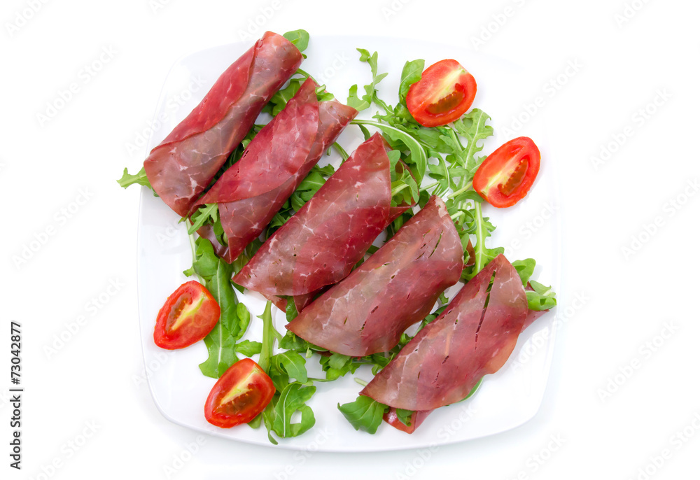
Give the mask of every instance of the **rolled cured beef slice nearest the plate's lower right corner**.
<path id="1" fill-rule="evenodd" d="M 527 315 L 525 290 L 517 271 L 498 255 L 360 395 L 408 410 L 430 410 L 458 402 L 482 376 L 503 366 Z"/>

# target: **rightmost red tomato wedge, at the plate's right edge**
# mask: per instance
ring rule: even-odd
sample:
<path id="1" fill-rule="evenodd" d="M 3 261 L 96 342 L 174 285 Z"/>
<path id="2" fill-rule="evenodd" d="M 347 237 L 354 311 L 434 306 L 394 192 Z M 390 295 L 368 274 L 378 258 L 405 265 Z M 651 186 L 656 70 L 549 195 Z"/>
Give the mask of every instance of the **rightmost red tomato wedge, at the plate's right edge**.
<path id="1" fill-rule="evenodd" d="M 540 171 L 540 150 L 526 136 L 503 143 L 479 165 L 474 190 L 486 202 L 503 209 L 527 195 Z"/>

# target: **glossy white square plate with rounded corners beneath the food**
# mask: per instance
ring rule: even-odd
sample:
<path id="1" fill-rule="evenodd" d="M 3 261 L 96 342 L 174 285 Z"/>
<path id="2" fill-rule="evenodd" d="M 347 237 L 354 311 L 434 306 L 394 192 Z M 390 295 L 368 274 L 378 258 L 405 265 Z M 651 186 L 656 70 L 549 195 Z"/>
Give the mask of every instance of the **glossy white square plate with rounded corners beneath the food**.
<path id="1" fill-rule="evenodd" d="M 173 66 L 162 93 L 153 122 L 153 134 L 148 150 L 180 122 L 209 90 L 216 78 L 234 62 L 250 43 L 235 43 L 209 48 L 180 59 Z M 358 61 L 356 48 L 379 52 L 379 72 L 389 75 L 379 84 L 379 96 L 389 104 L 397 102 L 398 83 L 407 60 L 423 58 L 426 66 L 443 58 L 457 59 L 473 76 L 478 85 L 475 107 L 491 115 L 492 125 L 505 125 L 513 110 L 513 86 L 517 85 L 518 70 L 499 59 L 477 54 L 449 45 L 407 41 L 398 38 L 324 36 L 311 37 L 304 52 L 307 59 L 302 69 L 316 80 L 326 83 L 328 91 L 340 101 L 346 100 L 353 84 L 362 86 L 371 80 L 370 68 Z M 360 113 L 360 118 L 370 118 Z M 370 129 L 371 130 L 371 129 Z M 538 180 L 526 199 L 503 211 L 484 206 L 484 215 L 497 226 L 488 245 L 506 246 L 509 260 L 533 257 L 538 261 L 535 276 L 542 283 L 559 285 L 559 223 L 560 212 L 552 164 L 547 156 L 544 133 L 538 122 L 528 122 L 519 134 L 531 136 L 542 151 L 542 166 Z M 508 140 L 496 128 L 495 136 L 487 139 L 482 154 L 490 153 Z M 349 153 L 363 141 L 360 129 L 347 127 L 339 143 Z M 145 155 L 144 155 L 145 156 Z M 323 157 L 322 163 L 335 163 L 334 153 Z M 429 179 L 428 179 L 429 180 Z M 165 351 L 153 343 L 155 318 L 165 299 L 186 278 L 182 271 L 192 264 L 192 253 L 186 228 L 160 199 L 144 188 L 139 215 L 139 314 L 144 361 L 148 371 L 153 400 L 162 414 L 174 423 L 194 430 L 235 439 L 239 442 L 268 445 L 264 426 L 253 430 L 247 425 L 231 429 L 216 428 L 204 420 L 204 401 L 215 379 L 202 375 L 198 365 L 207 359 L 203 342 L 181 351 Z M 458 286 L 448 290 L 454 296 Z M 264 299 L 256 293 L 239 295 L 251 311 L 251 325 L 246 337 L 262 337 L 261 321 Z M 276 309 L 273 310 L 276 311 Z M 283 312 L 276 311 L 277 330 L 284 332 Z M 316 425 L 300 437 L 280 439 L 279 447 L 318 451 L 382 451 L 423 448 L 450 444 L 492 435 L 517 427 L 532 418 L 540 407 L 545 391 L 549 363 L 554 349 L 554 313 L 545 314 L 521 334 L 507 364 L 496 374 L 487 376 L 474 397 L 466 402 L 434 411 L 412 435 L 407 435 L 382 423 L 376 435 L 354 430 L 337 409 L 338 403 L 352 402 L 361 387 L 353 376 L 329 383 L 317 383 L 316 395 L 309 402 L 316 415 Z M 255 357 L 254 357 L 255 358 Z M 307 360 L 311 376 L 323 376 L 316 356 Z M 354 376 L 365 381 L 372 378 L 369 368 L 360 368 Z"/>

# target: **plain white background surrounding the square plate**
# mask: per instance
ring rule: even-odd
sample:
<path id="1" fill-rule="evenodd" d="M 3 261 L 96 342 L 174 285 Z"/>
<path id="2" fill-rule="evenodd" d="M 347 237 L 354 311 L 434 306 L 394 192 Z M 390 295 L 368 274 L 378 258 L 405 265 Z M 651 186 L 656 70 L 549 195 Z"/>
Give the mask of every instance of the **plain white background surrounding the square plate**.
<path id="1" fill-rule="evenodd" d="M 697 478 L 698 3 L 156 2 L 0 8 L 3 479 Z M 528 69 L 513 115 L 544 100 L 532 115 L 549 125 L 543 161 L 558 167 L 564 280 L 562 327 L 533 420 L 433 451 L 308 455 L 200 436 L 155 408 L 138 333 L 139 190 L 115 180 L 123 167 L 140 168 L 143 149 L 127 146 L 148 126 L 175 60 L 239 41 L 256 18 L 255 38 L 304 28 L 312 41 L 430 39 Z M 109 62 L 85 76 L 103 51 Z M 580 68 L 566 77 L 569 62 Z M 566 84 L 550 95 L 545 85 L 558 77 Z M 77 92 L 42 122 L 71 83 Z M 602 148 L 614 151 L 591 160 Z M 81 191 L 87 200 L 66 218 L 61 209 Z M 37 239 L 41 247 L 17 262 Z M 88 309 L 111 281 L 116 295 Z M 10 320 L 23 325 L 21 472 L 7 456 Z"/>

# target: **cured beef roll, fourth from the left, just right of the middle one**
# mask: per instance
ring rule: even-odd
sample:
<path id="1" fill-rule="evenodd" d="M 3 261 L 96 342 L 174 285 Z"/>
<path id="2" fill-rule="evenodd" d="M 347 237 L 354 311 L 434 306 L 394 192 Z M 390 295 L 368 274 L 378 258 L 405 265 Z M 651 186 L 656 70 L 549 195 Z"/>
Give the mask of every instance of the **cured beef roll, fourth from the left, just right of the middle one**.
<path id="1" fill-rule="evenodd" d="M 463 250 L 439 197 L 384 246 L 286 325 L 312 344 L 351 356 L 388 351 L 454 285 Z"/>

